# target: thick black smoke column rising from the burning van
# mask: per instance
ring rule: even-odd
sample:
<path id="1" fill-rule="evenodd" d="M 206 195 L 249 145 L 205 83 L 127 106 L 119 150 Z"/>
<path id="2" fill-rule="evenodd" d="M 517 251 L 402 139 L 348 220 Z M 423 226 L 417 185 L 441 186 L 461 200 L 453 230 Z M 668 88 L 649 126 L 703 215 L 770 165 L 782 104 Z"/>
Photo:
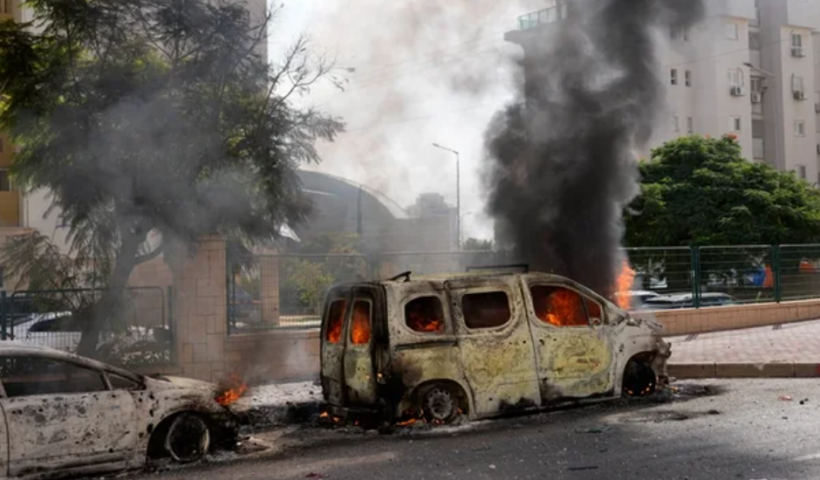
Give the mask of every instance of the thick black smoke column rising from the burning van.
<path id="1" fill-rule="evenodd" d="M 688 28 L 702 0 L 574 0 L 525 45 L 524 102 L 486 134 L 487 210 L 532 270 L 613 293 L 623 208 L 663 107 L 656 35 Z M 665 77 L 664 77 L 665 78 Z"/>

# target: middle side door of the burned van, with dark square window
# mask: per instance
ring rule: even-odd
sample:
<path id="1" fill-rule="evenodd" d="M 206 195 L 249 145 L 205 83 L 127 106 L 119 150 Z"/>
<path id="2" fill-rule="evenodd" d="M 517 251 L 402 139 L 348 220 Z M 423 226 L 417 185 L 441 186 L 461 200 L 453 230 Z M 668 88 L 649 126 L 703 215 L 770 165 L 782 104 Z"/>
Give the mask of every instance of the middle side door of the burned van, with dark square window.
<path id="1" fill-rule="evenodd" d="M 535 353 L 515 281 L 499 277 L 446 285 L 475 416 L 540 406 Z"/>

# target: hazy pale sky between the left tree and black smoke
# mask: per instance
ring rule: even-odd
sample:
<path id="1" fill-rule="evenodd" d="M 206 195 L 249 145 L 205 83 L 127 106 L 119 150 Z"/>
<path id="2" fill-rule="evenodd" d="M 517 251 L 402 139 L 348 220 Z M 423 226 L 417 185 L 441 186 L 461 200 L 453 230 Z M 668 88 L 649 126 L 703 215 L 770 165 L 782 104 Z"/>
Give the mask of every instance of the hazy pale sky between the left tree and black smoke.
<path id="1" fill-rule="evenodd" d="M 549 0 L 298 0 L 271 27 L 277 62 L 300 35 L 336 60 L 344 91 L 323 82 L 298 99 L 340 116 L 347 133 L 320 145 L 308 168 L 381 191 L 402 207 L 422 193 L 456 204 L 461 156 L 464 238 L 492 238 L 481 186 L 483 136 L 495 112 L 515 98 L 518 46 L 504 33 L 518 15 Z"/>

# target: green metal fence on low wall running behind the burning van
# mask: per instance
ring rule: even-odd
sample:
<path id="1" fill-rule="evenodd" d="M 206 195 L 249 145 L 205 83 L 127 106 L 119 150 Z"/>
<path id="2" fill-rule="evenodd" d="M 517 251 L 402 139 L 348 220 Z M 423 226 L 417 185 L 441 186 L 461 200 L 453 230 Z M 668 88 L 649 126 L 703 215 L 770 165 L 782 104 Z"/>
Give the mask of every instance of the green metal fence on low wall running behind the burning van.
<path id="1" fill-rule="evenodd" d="M 683 299 L 688 307 L 820 298 L 820 244 L 631 248 L 633 291 Z M 230 265 L 228 331 L 317 328 L 336 283 L 465 272 L 514 263 L 507 252 L 258 256 Z M 723 303 L 715 303 L 720 299 Z"/>

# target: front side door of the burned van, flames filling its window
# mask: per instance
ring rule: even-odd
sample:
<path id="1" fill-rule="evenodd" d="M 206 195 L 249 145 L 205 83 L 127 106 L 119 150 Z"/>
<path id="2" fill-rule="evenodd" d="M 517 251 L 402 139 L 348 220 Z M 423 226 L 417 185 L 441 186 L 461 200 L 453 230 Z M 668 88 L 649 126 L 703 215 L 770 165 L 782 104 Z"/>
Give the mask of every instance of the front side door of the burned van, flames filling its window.
<path id="1" fill-rule="evenodd" d="M 567 285 L 524 285 L 544 404 L 606 396 L 614 355 L 603 306 Z"/>

